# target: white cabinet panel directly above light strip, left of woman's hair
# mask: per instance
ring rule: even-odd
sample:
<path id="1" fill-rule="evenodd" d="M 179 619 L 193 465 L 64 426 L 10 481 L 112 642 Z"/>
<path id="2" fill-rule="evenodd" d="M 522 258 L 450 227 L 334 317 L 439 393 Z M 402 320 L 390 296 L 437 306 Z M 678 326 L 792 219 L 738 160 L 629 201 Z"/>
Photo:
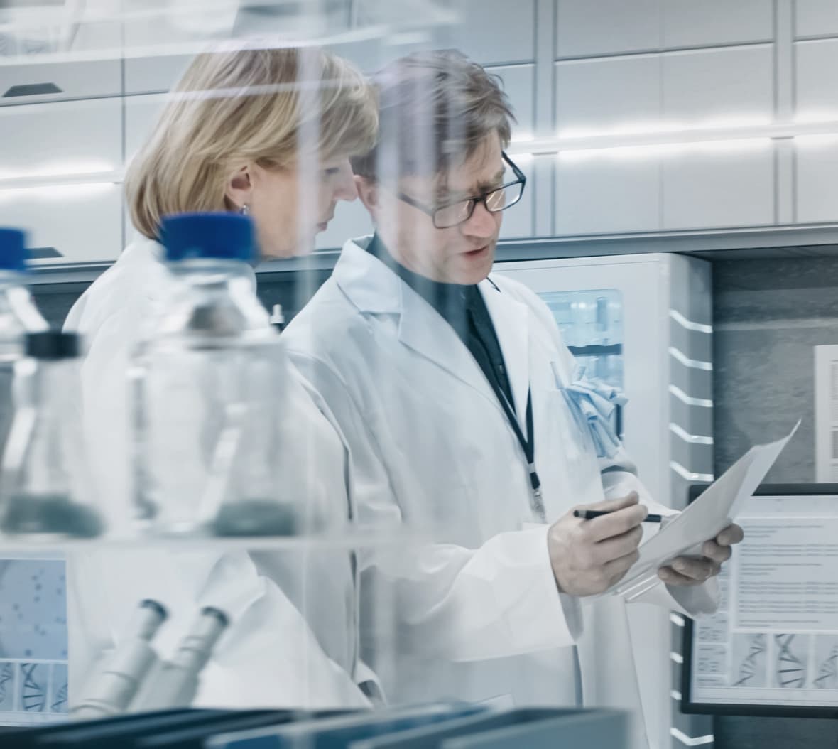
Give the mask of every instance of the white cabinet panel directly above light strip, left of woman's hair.
<path id="1" fill-rule="evenodd" d="M 122 165 L 118 98 L 0 109 L 0 178 L 73 174 Z"/>

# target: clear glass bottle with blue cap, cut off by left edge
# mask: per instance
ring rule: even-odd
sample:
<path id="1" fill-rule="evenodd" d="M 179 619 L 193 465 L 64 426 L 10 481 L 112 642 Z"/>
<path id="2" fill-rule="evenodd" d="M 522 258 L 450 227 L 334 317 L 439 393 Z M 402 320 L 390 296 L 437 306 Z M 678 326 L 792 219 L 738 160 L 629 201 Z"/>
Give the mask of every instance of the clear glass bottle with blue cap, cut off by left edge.
<path id="1" fill-rule="evenodd" d="M 12 425 L 14 363 L 23 357 L 27 333 L 47 324 L 26 286 L 26 236 L 0 227 L 0 452 Z"/>

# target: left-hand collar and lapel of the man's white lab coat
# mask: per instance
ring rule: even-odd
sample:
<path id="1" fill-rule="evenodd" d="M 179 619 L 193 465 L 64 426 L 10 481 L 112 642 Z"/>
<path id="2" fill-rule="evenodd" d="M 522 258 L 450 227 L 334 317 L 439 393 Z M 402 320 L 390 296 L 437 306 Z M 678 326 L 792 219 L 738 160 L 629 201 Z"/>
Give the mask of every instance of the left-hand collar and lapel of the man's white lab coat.
<path id="1" fill-rule="evenodd" d="M 360 245 L 366 241 L 347 242 L 334 268 L 335 281 L 344 294 L 361 312 L 398 315 L 398 335 L 403 346 L 477 390 L 502 413 L 484 373 L 451 325 Z"/>

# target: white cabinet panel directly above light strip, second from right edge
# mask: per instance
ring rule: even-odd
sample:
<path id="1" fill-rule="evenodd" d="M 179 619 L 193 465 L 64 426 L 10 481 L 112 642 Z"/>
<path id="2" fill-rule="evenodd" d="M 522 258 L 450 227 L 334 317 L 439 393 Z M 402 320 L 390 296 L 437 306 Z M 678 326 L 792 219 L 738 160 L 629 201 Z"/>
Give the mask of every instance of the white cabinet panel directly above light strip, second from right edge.
<path id="1" fill-rule="evenodd" d="M 697 49 L 663 55 L 668 122 L 737 119 L 770 122 L 774 110 L 772 46 Z"/>

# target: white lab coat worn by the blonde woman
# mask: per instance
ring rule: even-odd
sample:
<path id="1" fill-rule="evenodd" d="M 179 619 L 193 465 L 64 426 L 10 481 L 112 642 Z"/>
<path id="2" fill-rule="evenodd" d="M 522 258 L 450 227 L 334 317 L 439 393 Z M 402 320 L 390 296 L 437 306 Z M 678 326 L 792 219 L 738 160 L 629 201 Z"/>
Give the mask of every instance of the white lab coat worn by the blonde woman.
<path id="1" fill-rule="evenodd" d="M 137 236 L 76 302 L 65 323 L 79 330 L 88 346 L 81 367 L 83 419 L 112 533 L 126 533 L 132 518 L 126 372 L 142 325 L 173 283 L 160 262 L 162 252 L 156 242 Z M 349 500 L 339 435 L 292 367 L 279 380 L 288 388 L 287 439 L 277 447 L 287 489 L 345 522 Z M 200 607 L 219 606 L 232 617 L 204 671 L 196 705 L 369 705 L 356 686 L 369 674 L 357 658 L 356 586 L 346 550 L 248 554 L 176 544 L 70 556 L 71 703 L 80 698 L 96 658 L 118 641 L 137 603 L 153 598 L 171 615 L 154 640 L 164 657 Z"/>

